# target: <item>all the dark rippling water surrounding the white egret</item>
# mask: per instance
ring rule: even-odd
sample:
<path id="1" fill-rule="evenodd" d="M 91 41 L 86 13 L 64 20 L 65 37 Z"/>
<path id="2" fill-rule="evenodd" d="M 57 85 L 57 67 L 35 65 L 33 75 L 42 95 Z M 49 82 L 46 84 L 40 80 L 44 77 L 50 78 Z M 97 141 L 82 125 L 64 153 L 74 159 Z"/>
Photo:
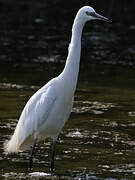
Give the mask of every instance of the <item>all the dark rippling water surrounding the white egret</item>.
<path id="1" fill-rule="evenodd" d="M 73 18 L 84 4 L 0 1 L 0 179 L 135 179 L 134 1 L 128 8 L 127 1 L 103 2 L 91 1 L 114 22 L 84 29 L 75 103 L 52 175 L 49 139 L 36 147 L 34 174 L 27 173 L 29 151 L 7 155 L 3 143 L 29 97 L 62 71 Z"/>

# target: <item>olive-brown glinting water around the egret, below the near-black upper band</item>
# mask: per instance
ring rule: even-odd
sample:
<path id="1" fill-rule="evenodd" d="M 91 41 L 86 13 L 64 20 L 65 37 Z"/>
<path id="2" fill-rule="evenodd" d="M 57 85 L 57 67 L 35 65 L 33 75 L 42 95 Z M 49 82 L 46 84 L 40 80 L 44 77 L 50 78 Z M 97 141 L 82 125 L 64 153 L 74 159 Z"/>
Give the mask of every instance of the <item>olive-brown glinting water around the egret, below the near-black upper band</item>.
<path id="1" fill-rule="evenodd" d="M 4 154 L 3 143 L 29 97 L 62 68 L 53 63 L 1 65 L 0 179 L 134 179 L 134 67 L 81 66 L 72 114 L 57 142 L 54 174 L 50 139 L 37 145 L 31 174 L 29 151 Z"/>

